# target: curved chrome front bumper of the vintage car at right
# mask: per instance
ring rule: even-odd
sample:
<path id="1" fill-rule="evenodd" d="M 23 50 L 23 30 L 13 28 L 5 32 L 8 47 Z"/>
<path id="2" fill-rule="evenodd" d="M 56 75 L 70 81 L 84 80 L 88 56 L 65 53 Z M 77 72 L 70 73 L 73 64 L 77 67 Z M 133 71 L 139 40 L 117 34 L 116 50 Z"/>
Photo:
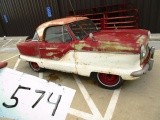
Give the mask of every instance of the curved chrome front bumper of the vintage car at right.
<path id="1" fill-rule="evenodd" d="M 149 59 L 148 63 L 147 63 L 141 70 L 132 72 L 132 73 L 131 73 L 131 76 L 132 76 L 132 77 L 139 77 L 139 76 L 145 74 L 147 71 L 152 70 L 153 63 L 154 63 L 154 59 L 153 59 L 153 57 L 154 57 L 154 52 L 155 52 L 155 48 L 154 48 L 154 47 L 151 47 L 151 48 L 150 48 L 150 59 Z"/>

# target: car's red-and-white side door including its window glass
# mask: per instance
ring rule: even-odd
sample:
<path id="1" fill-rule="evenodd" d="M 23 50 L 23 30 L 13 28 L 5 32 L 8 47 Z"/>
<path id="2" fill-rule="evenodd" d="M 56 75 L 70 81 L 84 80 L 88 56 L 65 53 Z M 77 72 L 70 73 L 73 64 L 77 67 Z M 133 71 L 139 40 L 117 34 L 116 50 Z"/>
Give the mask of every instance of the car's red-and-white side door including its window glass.
<path id="1" fill-rule="evenodd" d="M 40 56 L 43 66 L 48 69 L 76 72 L 74 41 L 66 26 L 52 26 L 45 30 L 45 40 L 41 42 Z"/>

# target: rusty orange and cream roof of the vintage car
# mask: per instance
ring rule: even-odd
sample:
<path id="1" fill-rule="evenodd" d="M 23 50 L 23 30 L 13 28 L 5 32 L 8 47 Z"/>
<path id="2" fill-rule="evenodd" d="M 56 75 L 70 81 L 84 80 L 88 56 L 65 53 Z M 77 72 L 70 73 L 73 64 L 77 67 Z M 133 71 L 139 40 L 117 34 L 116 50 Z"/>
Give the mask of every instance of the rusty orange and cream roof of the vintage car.
<path id="1" fill-rule="evenodd" d="M 41 24 L 37 28 L 37 33 L 39 35 L 40 40 L 42 40 L 43 39 L 43 32 L 44 32 L 45 28 L 47 28 L 49 26 L 64 25 L 64 24 L 72 23 L 72 22 L 79 21 L 79 20 L 85 20 L 85 19 L 88 19 L 88 18 L 75 16 L 75 17 L 66 17 L 66 18 L 51 20 L 51 21 L 48 21 L 48 22 Z"/>

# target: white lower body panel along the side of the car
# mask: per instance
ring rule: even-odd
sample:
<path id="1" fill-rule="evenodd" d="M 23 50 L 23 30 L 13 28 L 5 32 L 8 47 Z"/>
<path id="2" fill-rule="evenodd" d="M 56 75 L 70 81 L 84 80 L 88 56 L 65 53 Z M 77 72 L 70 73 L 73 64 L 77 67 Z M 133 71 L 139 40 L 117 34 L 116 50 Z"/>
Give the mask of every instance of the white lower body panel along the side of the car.
<path id="1" fill-rule="evenodd" d="M 119 75 L 124 80 L 134 80 L 130 74 L 141 70 L 140 55 L 127 53 L 99 53 L 70 51 L 60 60 L 41 59 L 20 55 L 26 61 L 36 62 L 41 68 L 90 76 L 92 72 Z"/>

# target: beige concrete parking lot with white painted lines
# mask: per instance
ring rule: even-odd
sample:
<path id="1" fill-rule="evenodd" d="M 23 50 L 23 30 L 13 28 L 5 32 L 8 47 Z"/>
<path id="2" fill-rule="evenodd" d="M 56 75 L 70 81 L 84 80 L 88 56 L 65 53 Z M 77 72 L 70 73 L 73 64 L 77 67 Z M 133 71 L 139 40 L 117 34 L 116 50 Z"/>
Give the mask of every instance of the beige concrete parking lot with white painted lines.
<path id="1" fill-rule="evenodd" d="M 0 38 L 0 61 L 7 61 L 9 68 L 13 69 L 18 60 L 16 43 L 24 39 Z M 66 120 L 160 120 L 160 41 L 151 41 L 152 45 L 156 47 L 152 71 L 114 91 L 99 87 L 92 78 L 43 72 L 44 79 L 76 90 Z M 25 61 L 20 61 L 17 70 L 39 77 Z"/>

